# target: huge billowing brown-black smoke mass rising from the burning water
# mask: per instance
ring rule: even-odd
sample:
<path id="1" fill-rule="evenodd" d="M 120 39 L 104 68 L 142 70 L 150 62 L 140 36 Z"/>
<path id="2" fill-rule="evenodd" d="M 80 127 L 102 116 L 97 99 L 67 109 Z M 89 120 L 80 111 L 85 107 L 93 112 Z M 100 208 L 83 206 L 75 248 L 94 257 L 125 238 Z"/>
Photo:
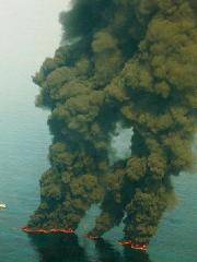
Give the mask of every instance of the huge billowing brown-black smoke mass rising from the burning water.
<path id="1" fill-rule="evenodd" d="M 62 45 L 34 78 L 54 141 L 28 226 L 77 228 L 102 203 L 91 234 L 125 217 L 125 238 L 149 242 L 174 199 L 171 176 L 194 163 L 196 10 L 189 0 L 74 0 L 61 13 Z M 131 155 L 112 165 L 118 122 L 134 129 Z"/>

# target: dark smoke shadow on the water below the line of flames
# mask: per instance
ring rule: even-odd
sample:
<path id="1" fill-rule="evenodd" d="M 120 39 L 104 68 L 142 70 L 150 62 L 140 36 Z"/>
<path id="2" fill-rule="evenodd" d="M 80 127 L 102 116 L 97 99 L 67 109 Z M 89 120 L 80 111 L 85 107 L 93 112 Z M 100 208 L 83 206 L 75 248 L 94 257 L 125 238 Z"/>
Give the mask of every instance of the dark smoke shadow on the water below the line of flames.
<path id="1" fill-rule="evenodd" d="M 120 252 L 112 243 L 95 241 L 95 257 L 89 258 L 76 235 L 30 235 L 39 262 L 151 262 L 149 255 L 124 248 Z"/>

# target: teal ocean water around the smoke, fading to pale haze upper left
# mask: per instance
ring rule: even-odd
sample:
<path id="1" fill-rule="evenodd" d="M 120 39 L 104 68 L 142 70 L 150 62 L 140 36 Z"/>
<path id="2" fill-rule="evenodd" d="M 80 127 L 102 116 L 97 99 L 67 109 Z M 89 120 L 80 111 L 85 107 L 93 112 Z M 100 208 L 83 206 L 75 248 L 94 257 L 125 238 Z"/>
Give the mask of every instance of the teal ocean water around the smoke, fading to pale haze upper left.
<path id="1" fill-rule="evenodd" d="M 48 167 L 48 111 L 35 108 L 31 75 L 60 40 L 59 11 L 66 0 L 0 1 L 0 262 L 196 262 L 197 174 L 174 179 L 178 196 L 148 253 L 121 249 L 115 228 L 97 242 L 83 237 L 99 210 L 93 206 L 77 236 L 34 236 L 20 230 L 39 202 L 38 180 Z"/>

